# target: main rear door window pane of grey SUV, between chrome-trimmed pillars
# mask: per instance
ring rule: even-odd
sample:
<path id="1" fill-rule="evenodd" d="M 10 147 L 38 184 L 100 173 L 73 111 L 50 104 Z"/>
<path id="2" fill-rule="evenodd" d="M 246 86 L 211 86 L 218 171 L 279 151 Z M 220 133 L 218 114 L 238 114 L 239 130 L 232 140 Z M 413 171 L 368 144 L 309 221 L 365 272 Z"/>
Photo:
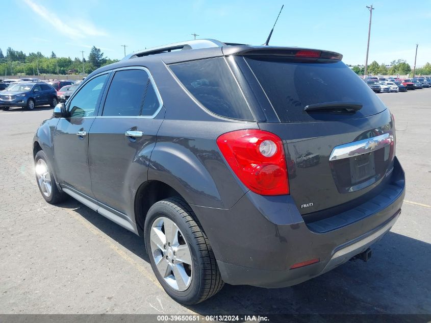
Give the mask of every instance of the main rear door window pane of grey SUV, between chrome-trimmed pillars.
<path id="1" fill-rule="evenodd" d="M 102 115 L 140 115 L 147 84 L 148 74 L 142 69 L 125 69 L 115 72 Z"/>

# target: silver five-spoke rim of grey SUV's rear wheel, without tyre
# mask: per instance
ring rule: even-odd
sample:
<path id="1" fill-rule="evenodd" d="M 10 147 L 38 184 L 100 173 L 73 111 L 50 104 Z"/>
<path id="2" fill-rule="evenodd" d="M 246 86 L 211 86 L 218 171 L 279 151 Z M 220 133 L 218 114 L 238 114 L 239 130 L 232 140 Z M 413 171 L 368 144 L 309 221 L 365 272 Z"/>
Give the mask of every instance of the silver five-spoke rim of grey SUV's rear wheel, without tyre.
<path id="1" fill-rule="evenodd" d="M 192 255 L 176 224 L 159 217 L 151 225 L 151 256 L 165 282 L 175 290 L 185 291 L 192 281 Z"/>

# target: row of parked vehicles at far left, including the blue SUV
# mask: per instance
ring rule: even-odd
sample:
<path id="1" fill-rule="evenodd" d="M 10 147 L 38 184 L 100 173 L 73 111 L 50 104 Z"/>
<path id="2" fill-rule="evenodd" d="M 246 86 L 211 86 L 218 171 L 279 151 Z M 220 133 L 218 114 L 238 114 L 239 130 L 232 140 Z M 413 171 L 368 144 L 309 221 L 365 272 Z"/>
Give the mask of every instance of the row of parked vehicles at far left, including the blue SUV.
<path id="1" fill-rule="evenodd" d="M 1 82 L 3 81 L 3 82 Z M 0 109 L 21 107 L 33 110 L 49 104 L 55 107 L 76 90 L 82 81 L 39 80 L 36 78 L 0 80 Z"/>

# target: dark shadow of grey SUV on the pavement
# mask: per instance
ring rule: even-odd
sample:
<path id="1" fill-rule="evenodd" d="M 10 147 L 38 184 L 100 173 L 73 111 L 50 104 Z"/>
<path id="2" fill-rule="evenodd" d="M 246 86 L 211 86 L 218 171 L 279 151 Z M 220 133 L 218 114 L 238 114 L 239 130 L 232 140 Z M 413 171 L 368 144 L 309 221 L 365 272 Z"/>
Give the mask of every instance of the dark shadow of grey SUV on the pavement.
<path id="1" fill-rule="evenodd" d="M 93 226 L 149 262 L 143 239 L 71 199 Z M 431 314 L 431 244 L 389 232 L 372 246 L 372 258 L 347 263 L 302 284 L 278 289 L 225 285 L 204 303 L 201 315 Z"/>

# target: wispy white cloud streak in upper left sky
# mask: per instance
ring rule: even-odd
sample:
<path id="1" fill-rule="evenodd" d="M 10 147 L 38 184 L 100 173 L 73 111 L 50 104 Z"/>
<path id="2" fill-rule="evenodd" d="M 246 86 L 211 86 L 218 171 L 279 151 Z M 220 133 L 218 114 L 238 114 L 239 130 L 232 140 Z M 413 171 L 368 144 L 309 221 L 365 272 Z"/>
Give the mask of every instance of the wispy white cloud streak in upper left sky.
<path id="1" fill-rule="evenodd" d="M 87 36 L 106 36 L 106 32 L 97 29 L 91 22 L 81 21 L 74 27 L 67 26 L 54 12 L 49 11 L 42 5 L 35 4 L 33 0 L 24 0 L 24 2 L 47 23 L 52 24 L 55 30 L 64 34 L 71 39 L 82 39 Z M 71 18 L 73 20 L 73 18 Z"/>

